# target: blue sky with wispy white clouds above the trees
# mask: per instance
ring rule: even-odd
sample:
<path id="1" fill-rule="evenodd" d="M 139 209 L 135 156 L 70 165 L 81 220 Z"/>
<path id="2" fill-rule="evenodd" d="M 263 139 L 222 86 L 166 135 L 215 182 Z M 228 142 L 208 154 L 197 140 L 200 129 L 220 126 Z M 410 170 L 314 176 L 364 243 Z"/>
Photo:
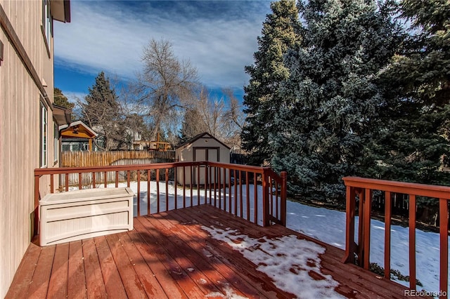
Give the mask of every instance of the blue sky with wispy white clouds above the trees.
<path id="1" fill-rule="evenodd" d="M 85 95 L 101 71 L 133 80 L 150 39 L 169 40 L 213 94 L 233 88 L 242 98 L 249 79 L 244 67 L 254 62 L 257 36 L 271 13 L 267 0 L 72 0 L 70 6 L 71 22 L 54 22 L 55 86 L 70 99 Z"/>

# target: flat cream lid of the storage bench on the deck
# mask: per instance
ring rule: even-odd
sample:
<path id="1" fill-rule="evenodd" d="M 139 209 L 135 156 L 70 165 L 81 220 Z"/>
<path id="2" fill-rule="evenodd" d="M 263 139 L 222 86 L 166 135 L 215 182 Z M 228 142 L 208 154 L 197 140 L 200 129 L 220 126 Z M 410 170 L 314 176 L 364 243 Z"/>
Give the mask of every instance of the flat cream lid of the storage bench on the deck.
<path id="1" fill-rule="evenodd" d="M 74 190 L 47 194 L 39 201 L 39 205 L 46 206 L 50 204 L 63 204 L 79 201 L 91 201 L 96 199 L 113 199 L 133 196 L 134 193 L 129 187 Z"/>

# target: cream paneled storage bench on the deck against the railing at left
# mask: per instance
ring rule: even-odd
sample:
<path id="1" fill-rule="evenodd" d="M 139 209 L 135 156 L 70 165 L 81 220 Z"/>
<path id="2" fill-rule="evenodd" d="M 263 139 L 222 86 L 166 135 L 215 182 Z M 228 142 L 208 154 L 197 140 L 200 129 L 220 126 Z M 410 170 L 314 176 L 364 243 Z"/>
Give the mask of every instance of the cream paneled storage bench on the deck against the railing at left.
<path id="1" fill-rule="evenodd" d="M 130 188 L 47 194 L 39 201 L 40 246 L 133 230 Z"/>

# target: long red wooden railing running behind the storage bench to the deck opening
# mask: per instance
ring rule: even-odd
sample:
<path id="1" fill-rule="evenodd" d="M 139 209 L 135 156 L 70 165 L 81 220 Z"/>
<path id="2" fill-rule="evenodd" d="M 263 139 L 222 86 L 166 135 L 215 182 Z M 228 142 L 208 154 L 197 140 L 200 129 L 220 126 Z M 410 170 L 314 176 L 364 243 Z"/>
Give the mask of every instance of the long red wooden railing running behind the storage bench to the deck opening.
<path id="1" fill-rule="evenodd" d="M 41 177 L 50 177 L 49 186 L 41 185 Z M 58 177 L 56 177 L 58 175 Z M 258 224 L 259 208 L 262 208 L 262 225 L 271 222 L 286 223 L 286 173 L 274 173 L 271 168 L 223 164 L 209 161 L 174 162 L 158 164 L 134 164 L 124 166 L 96 166 L 70 168 L 37 168 L 34 170 L 34 205 L 45 193 L 68 192 L 70 189 L 89 189 L 99 185 L 108 187 L 119 182 L 137 181 L 137 216 L 141 215 L 141 181 L 147 182 L 147 213 L 169 210 L 169 182 L 181 186 L 174 188 L 174 208 L 212 204 L 222 210 Z M 156 211 L 150 209 L 150 181 L 156 182 Z M 59 182 L 59 183 L 58 183 Z M 165 182 L 165 192 L 160 190 Z M 55 185 L 58 184 L 58 187 Z M 259 194 L 258 186 L 262 186 Z M 250 188 L 254 188 L 252 199 Z M 178 194 L 180 192 L 180 194 Z M 161 196 L 161 193 L 162 194 Z M 186 196 L 186 194 L 190 196 Z M 183 199 L 178 206 L 178 197 Z M 164 199 L 164 200 L 162 200 Z M 201 200 L 200 200 L 201 199 Z M 187 202 L 186 202 L 187 201 Z M 251 209 L 253 211 L 251 212 Z M 35 213 L 37 220 L 37 213 Z M 35 226 L 37 227 L 37 226 Z"/>

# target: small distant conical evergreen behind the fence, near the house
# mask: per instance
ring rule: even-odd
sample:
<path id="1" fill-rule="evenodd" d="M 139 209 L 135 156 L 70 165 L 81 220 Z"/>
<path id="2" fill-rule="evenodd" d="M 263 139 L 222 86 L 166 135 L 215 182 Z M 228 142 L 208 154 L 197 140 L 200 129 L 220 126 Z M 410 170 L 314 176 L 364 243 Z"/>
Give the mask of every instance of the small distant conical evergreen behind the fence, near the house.
<path id="1" fill-rule="evenodd" d="M 115 89 L 110 80 L 101 72 L 96 83 L 88 88 L 89 94 L 82 103 L 82 121 L 98 133 L 96 145 L 103 150 L 119 149 L 127 145 L 126 128 L 120 114 Z"/>

